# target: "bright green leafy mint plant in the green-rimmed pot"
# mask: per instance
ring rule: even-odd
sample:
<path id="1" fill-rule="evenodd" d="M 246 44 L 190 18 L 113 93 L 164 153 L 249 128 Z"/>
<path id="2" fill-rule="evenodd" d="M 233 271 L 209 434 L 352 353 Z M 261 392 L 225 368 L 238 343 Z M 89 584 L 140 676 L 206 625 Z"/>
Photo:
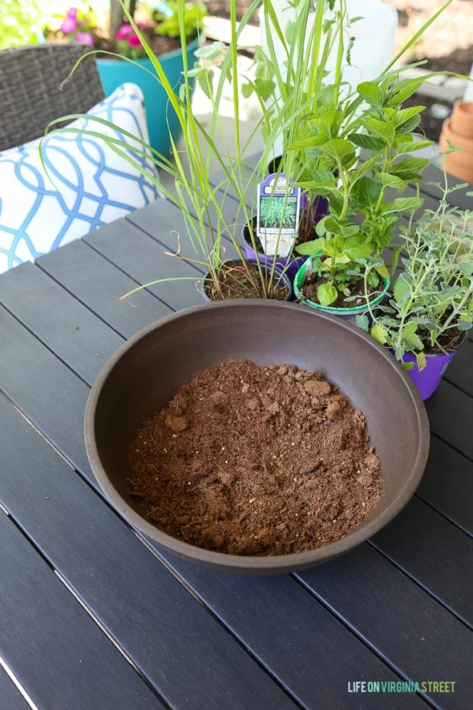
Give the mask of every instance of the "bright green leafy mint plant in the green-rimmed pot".
<path id="1" fill-rule="evenodd" d="M 429 160 L 411 155 L 431 141 L 414 140 L 424 107 L 402 108 L 402 102 L 418 88 L 416 80 L 396 82 L 399 72 L 389 72 L 360 84 L 338 108 L 321 107 L 311 120 L 313 135 L 296 141 L 289 149 L 303 149 L 318 160 L 311 180 L 299 186 L 328 197 L 330 213 L 316 226 L 318 239 L 296 247 L 314 256 L 312 268 L 323 278 L 317 297 L 328 306 L 339 293 L 350 296 L 350 285 L 363 278 L 358 260 L 374 255 L 377 260 L 389 246 L 401 217 L 423 205 L 421 197 L 401 197 L 409 183 L 422 180 Z M 368 107 L 358 116 L 353 104 Z M 366 157 L 357 161 L 357 148 Z M 391 200 L 386 195 L 391 190 Z M 384 263 L 369 271 L 369 285 L 377 288 L 388 278 Z"/>

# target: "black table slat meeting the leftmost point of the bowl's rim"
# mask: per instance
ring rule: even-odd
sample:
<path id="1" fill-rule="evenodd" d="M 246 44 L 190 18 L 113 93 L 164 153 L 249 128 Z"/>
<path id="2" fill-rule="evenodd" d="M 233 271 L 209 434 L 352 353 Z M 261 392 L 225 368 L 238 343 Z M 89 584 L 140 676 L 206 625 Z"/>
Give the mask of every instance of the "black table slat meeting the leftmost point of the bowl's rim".
<path id="1" fill-rule="evenodd" d="M 87 385 L 2 306 L 0 343 L 0 391 L 94 481 L 83 434 Z"/>

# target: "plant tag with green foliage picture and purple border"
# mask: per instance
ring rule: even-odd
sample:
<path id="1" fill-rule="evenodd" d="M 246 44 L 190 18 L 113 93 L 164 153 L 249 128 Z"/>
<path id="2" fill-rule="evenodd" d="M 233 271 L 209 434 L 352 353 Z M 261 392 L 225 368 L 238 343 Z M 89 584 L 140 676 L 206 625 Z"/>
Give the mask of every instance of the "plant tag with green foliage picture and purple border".
<path id="1" fill-rule="evenodd" d="M 258 185 L 257 235 L 267 256 L 288 256 L 299 229 L 301 188 L 284 173 L 272 173 Z"/>

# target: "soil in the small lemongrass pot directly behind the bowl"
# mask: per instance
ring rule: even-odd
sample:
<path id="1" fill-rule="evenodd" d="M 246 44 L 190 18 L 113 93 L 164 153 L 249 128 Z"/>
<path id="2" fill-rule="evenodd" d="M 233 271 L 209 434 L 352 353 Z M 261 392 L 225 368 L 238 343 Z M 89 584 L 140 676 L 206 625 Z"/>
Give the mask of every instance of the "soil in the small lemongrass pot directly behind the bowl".
<path id="1" fill-rule="evenodd" d="M 269 281 L 269 273 L 267 279 Z M 284 301 L 287 296 L 287 286 L 279 285 L 276 274 L 269 293 L 263 293 L 260 271 L 257 266 L 247 262 L 243 266 L 241 261 L 226 262 L 218 272 L 218 285 L 213 280 L 206 279 L 204 290 L 208 298 L 213 301 L 235 298 L 271 298 Z"/>

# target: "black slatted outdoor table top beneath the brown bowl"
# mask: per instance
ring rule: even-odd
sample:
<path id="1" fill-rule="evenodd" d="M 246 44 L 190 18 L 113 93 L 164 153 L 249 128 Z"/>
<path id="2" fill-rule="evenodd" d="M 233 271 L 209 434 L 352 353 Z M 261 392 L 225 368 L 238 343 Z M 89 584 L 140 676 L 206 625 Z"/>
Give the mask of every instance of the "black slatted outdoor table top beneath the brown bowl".
<path id="1" fill-rule="evenodd" d="M 435 205 L 435 187 L 422 190 Z M 229 220 L 237 207 L 227 195 Z M 471 335 L 426 403 L 418 491 L 333 562 L 281 577 L 211 572 L 161 552 L 101 493 L 87 395 L 126 339 L 202 302 L 204 270 L 165 255 L 184 229 L 158 200 L 0 276 L 1 710 L 472 707 Z M 358 681 L 455 686 L 349 692 Z"/>

